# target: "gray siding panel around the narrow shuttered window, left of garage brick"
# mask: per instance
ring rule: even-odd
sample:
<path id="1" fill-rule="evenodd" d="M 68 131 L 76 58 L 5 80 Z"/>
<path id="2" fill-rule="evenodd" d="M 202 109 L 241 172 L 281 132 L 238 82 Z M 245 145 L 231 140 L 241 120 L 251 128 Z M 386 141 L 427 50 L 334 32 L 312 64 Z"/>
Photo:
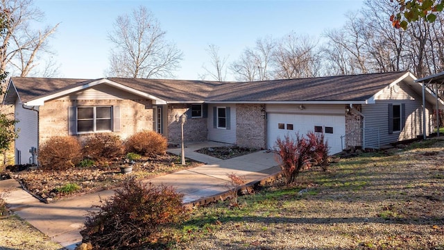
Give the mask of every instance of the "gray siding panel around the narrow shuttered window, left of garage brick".
<path id="1" fill-rule="evenodd" d="M 230 129 L 214 128 L 213 107 L 230 107 Z M 208 140 L 236 144 L 236 105 L 211 104 L 208 106 Z"/>

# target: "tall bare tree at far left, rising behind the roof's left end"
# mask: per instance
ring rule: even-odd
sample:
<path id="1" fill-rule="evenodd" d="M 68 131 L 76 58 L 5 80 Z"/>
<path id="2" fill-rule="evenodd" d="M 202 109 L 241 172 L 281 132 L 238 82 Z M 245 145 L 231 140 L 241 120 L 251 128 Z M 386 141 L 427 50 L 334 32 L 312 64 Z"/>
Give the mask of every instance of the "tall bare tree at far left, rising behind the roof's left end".
<path id="1" fill-rule="evenodd" d="M 33 7 L 33 0 L 1 0 L 1 8 L 10 10 L 12 24 L 5 35 L 0 53 L 0 68 L 12 75 L 28 76 L 39 65 L 41 54 L 53 54 L 49 50 L 49 38 L 56 26 L 33 30 L 31 22 L 41 22 L 43 12 Z M 45 66 L 46 68 L 48 65 Z M 57 72 L 57 69 L 51 69 Z"/>

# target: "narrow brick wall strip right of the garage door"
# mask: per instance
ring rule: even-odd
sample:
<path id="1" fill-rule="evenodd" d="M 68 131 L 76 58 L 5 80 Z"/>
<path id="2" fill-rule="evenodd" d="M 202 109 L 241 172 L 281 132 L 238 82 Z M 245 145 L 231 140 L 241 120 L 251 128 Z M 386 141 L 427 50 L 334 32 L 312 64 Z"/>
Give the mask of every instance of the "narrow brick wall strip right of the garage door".
<path id="1" fill-rule="evenodd" d="M 353 108 L 361 112 L 361 105 L 353 105 Z M 362 146 L 362 117 L 359 113 L 350 110 L 345 114 L 345 133 L 345 147 Z"/>

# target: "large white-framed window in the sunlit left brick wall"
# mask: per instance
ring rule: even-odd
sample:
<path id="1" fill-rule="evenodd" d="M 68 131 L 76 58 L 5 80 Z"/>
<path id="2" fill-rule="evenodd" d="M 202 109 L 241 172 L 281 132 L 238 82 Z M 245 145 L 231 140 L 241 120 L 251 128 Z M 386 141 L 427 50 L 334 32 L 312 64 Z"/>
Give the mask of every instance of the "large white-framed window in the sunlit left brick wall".
<path id="1" fill-rule="evenodd" d="M 112 131 L 112 107 L 77 107 L 77 132 Z"/>

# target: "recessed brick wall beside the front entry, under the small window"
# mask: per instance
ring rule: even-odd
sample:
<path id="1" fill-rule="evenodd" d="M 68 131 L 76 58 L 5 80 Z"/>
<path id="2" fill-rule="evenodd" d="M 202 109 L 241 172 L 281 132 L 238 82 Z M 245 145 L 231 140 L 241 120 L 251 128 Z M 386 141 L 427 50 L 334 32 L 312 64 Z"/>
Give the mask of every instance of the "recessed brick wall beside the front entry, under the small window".
<path id="1" fill-rule="evenodd" d="M 189 104 L 169 104 L 168 106 L 168 141 L 171 143 L 180 143 L 181 126 L 176 122 L 176 114 L 187 113 L 191 108 Z M 185 142 L 202 142 L 207 140 L 208 119 L 187 117 L 187 122 L 183 126 Z"/>

